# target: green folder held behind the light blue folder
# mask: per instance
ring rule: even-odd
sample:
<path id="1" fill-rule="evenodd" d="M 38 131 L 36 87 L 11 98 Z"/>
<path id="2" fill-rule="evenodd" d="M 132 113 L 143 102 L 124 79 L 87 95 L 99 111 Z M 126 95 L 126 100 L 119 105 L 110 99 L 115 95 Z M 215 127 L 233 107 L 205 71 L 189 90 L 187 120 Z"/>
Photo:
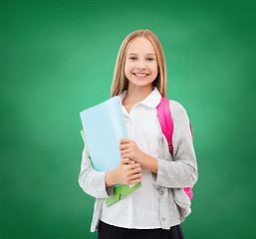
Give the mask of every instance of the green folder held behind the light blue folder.
<path id="1" fill-rule="evenodd" d="M 87 145 L 86 135 L 85 135 L 84 129 L 81 130 L 81 134 L 82 134 L 82 137 L 84 139 L 86 150 L 88 152 L 89 158 L 92 162 L 92 165 L 94 166 L 93 160 L 92 160 L 90 152 L 88 150 L 88 145 Z M 107 207 L 111 206 L 112 204 L 121 200 L 123 197 L 127 196 L 129 193 L 136 190 L 140 186 L 141 186 L 141 182 L 136 183 L 133 186 L 126 185 L 126 184 L 119 184 L 118 186 L 114 186 L 114 191 L 113 191 L 112 197 L 105 198 L 106 206 Z"/>

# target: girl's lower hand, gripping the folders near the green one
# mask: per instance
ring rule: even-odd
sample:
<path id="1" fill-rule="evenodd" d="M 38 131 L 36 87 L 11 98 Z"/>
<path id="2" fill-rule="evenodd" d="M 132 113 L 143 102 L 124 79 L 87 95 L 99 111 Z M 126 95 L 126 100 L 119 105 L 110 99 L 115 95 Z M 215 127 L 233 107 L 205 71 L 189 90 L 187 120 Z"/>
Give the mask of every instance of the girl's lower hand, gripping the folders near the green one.
<path id="1" fill-rule="evenodd" d="M 129 158 L 122 158 L 119 167 L 116 169 L 117 182 L 131 185 L 142 180 L 141 167 Z"/>

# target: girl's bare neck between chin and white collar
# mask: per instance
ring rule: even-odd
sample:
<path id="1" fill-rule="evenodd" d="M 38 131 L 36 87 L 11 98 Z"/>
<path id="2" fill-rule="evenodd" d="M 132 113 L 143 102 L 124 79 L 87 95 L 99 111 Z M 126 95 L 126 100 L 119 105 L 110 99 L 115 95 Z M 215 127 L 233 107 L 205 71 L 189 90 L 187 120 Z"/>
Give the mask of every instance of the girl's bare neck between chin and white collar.
<path id="1" fill-rule="evenodd" d="M 152 85 L 145 87 L 136 87 L 128 85 L 128 93 L 126 96 L 126 103 L 136 104 L 143 101 L 152 92 Z"/>

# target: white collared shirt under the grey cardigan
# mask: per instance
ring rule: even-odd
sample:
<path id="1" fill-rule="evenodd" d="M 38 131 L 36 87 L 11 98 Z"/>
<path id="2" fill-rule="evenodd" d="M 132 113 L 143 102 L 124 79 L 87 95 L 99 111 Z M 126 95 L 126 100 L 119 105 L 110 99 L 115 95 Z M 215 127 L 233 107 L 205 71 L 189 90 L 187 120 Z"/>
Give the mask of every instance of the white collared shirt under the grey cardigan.
<path id="1" fill-rule="evenodd" d="M 123 102 L 127 95 L 120 97 Z M 124 106 L 123 114 L 128 129 L 128 138 L 135 141 L 144 153 L 157 157 L 160 128 L 157 124 L 156 107 L 161 100 L 157 88 L 141 102 L 136 103 L 129 114 Z M 152 173 L 141 167 L 141 187 L 128 194 L 112 206 L 103 203 L 101 220 L 115 226 L 126 228 L 160 228 L 159 188 L 154 184 Z"/>

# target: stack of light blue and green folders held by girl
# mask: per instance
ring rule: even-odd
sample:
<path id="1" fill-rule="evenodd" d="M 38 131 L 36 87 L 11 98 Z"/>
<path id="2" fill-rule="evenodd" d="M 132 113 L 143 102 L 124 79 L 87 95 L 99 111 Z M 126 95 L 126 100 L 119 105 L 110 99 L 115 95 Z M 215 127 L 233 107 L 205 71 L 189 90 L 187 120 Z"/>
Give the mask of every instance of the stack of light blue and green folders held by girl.
<path id="1" fill-rule="evenodd" d="M 80 113 L 85 141 L 92 165 L 98 171 L 110 171 L 117 168 L 121 161 L 120 139 L 128 137 L 123 116 L 122 102 L 119 96 Z M 110 206 L 139 188 L 141 183 L 133 185 L 116 184 L 112 197 L 105 198 Z"/>

